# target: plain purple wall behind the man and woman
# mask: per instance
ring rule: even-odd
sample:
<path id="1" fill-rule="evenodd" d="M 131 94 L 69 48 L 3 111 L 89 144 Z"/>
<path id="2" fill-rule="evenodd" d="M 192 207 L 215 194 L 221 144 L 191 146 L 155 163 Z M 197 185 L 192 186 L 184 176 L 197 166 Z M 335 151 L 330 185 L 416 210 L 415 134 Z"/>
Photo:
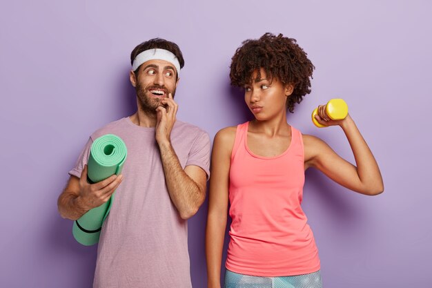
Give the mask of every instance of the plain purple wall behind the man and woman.
<path id="1" fill-rule="evenodd" d="M 431 2 L 204 2 L 0 4 L 0 287 L 91 286 L 96 248 L 75 242 L 57 197 L 88 135 L 135 111 L 135 45 L 179 44 L 178 118 L 213 138 L 251 117 L 228 66 L 264 32 L 294 37 L 316 66 L 313 93 L 288 122 L 353 161 L 339 128 L 310 120 L 317 104 L 343 97 L 384 177 L 371 198 L 307 171 L 303 207 L 324 287 L 432 287 Z M 189 222 L 194 288 L 206 286 L 206 207 Z"/>

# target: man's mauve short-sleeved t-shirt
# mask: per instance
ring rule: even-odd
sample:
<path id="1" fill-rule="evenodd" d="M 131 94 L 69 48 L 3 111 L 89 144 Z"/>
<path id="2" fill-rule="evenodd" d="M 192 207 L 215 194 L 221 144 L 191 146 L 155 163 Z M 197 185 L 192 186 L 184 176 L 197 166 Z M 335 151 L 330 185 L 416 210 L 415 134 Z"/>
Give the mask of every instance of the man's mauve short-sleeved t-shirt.
<path id="1" fill-rule="evenodd" d="M 187 222 L 170 200 L 155 128 L 129 117 L 104 126 L 90 136 L 69 174 L 81 176 L 92 142 L 108 133 L 124 140 L 128 157 L 101 230 L 93 287 L 190 288 Z M 171 143 L 183 168 L 199 166 L 210 175 L 206 132 L 177 120 Z"/>

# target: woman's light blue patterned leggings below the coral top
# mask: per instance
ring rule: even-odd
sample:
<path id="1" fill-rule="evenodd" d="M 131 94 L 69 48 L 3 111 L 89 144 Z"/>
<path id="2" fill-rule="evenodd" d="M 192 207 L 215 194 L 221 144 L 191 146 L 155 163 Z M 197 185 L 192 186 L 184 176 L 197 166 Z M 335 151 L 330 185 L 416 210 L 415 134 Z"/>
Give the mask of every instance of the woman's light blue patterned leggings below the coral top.
<path id="1" fill-rule="evenodd" d="M 224 288 L 322 288 L 320 270 L 297 276 L 262 277 L 226 269 Z"/>

